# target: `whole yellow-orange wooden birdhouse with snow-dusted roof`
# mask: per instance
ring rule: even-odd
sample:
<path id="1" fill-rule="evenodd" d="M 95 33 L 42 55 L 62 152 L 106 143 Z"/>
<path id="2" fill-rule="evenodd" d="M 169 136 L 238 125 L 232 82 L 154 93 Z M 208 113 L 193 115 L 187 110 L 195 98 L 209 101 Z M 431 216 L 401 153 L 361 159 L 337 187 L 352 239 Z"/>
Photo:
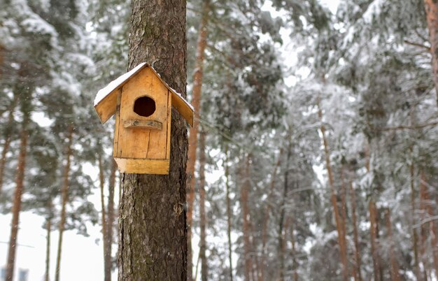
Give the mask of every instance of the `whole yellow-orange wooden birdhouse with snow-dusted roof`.
<path id="1" fill-rule="evenodd" d="M 120 172 L 169 173 L 171 106 L 193 125 L 192 106 L 146 63 L 97 93 L 101 122 L 115 114 L 113 156 Z"/>

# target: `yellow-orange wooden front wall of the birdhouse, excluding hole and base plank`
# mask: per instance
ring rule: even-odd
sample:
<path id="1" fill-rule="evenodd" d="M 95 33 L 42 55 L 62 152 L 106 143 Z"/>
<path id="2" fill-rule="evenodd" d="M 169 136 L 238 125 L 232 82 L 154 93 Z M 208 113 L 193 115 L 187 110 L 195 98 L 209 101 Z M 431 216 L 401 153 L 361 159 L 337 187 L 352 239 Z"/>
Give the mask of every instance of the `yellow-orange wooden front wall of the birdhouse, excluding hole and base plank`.
<path id="1" fill-rule="evenodd" d="M 155 112 L 148 116 L 134 113 L 134 102 L 142 96 L 155 101 Z M 159 122 L 162 128 L 127 127 L 138 120 Z M 122 87 L 120 110 L 116 115 L 114 157 L 129 159 L 170 159 L 171 96 L 149 68 L 143 69 Z"/>

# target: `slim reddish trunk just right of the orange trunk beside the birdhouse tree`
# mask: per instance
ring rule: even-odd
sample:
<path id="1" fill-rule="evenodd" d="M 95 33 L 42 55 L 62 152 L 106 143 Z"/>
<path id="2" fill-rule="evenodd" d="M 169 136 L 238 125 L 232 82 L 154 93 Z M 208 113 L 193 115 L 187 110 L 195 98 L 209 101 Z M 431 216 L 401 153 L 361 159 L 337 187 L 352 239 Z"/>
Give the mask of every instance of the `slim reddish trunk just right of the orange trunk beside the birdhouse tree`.
<path id="1" fill-rule="evenodd" d="M 199 257 L 201 258 L 201 280 L 207 281 L 209 279 L 209 267 L 206 257 L 206 214 L 205 214 L 205 131 L 201 131 L 199 134 L 199 219 L 201 226 L 201 247 L 199 249 Z"/>

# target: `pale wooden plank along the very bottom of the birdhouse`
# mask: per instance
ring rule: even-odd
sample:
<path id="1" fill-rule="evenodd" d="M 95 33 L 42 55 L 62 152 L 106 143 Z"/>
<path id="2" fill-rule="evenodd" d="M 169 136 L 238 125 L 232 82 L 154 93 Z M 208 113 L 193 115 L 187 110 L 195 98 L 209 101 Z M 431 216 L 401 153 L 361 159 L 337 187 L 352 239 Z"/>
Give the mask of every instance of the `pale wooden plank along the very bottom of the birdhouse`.
<path id="1" fill-rule="evenodd" d="M 132 159 L 114 157 L 120 173 L 169 174 L 169 159 Z"/>

